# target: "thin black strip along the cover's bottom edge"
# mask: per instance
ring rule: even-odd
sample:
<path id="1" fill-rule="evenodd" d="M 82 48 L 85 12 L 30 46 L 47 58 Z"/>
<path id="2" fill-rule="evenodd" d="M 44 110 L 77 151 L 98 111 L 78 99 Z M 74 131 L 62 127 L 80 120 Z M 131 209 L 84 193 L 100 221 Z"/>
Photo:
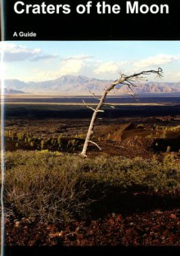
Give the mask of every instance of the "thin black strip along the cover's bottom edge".
<path id="1" fill-rule="evenodd" d="M 5 256 L 39 256 L 39 255 L 51 255 L 51 256 L 80 256 L 80 255 L 121 255 L 121 256 L 144 256 L 154 254 L 158 255 L 179 255 L 179 247 L 177 246 L 98 246 L 98 247 L 5 247 Z"/>

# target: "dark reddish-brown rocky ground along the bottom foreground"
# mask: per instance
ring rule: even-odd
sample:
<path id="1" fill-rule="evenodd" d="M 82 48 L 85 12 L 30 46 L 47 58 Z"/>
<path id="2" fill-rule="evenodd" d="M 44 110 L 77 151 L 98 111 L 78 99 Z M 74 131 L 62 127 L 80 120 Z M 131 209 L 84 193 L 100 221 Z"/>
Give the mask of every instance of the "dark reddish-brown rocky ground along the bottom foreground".
<path id="1" fill-rule="evenodd" d="M 70 223 L 6 217 L 6 245 L 162 246 L 180 245 L 180 208 L 109 213 Z"/>

